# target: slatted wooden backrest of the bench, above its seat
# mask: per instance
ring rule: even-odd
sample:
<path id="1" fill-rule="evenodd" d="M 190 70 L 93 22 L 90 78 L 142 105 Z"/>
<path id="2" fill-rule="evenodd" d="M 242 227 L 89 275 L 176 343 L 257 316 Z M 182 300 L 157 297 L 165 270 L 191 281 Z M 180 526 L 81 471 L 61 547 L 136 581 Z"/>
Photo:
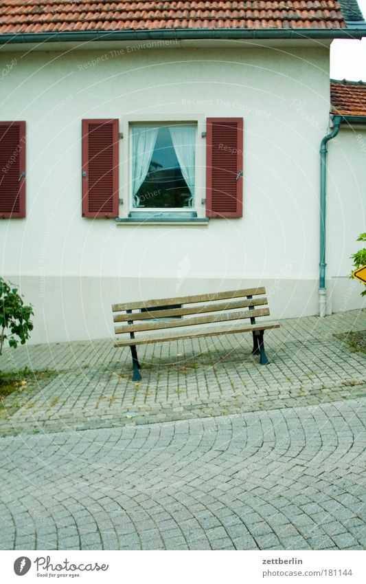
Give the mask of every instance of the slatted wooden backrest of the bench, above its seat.
<path id="1" fill-rule="evenodd" d="M 254 324 L 255 318 L 269 314 L 268 307 L 263 307 L 268 304 L 264 294 L 266 294 L 265 288 L 247 288 L 247 290 L 229 290 L 213 294 L 113 304 L 112 310 L 115 313 L 113 320 L 115 323 L 122 323 L 115 325 L 115 334 L 130 333 L 134 338 L 135 332 L 205 325 L 242 318 L 250 318 L 251 324 Z M 181 305 L 181 307 L 177 308 L 176 305 Z M 257 306 L 259 308 L 255 308 Z M 200 316 L 176 318 L 189 315 Z"/>

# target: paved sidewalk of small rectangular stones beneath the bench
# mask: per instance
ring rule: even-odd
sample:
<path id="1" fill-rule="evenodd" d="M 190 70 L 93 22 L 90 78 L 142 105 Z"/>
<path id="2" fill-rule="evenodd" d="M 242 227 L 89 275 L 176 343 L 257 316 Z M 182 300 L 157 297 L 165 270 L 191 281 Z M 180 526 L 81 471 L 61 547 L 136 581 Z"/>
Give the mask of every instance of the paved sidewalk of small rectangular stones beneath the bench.
<path id="1" fill-rule="evenodd" d="M 138 347 L 143 379 L 131 380 L 128 347 L 113 341 L 54 343 L 6 353 L 1 369 L 57 372 L 12 394 L 0 435 L 97 429 L 298 407 L 365 396 L 365 355 L 334 334 L 366 329 L 366 310 L 281 322 L 265 334 L 273 361 L 251 356 L 251 335 Z"/>

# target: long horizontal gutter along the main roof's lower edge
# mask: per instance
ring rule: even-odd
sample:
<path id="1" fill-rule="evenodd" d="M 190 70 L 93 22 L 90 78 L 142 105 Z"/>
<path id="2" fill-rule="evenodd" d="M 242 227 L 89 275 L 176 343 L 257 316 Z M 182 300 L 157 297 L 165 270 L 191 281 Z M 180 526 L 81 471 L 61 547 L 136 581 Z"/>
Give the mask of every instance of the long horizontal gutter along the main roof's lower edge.
<path id="1" fill-rule="evenodd" d="M 265 28 L 265 29 L 164 29 L 164 30 L 98 30 L 77 32 L 24 32 L 0 34 L 0 45 L 8 43 L 62 43 L 78 41 L 146 41 L 183 39 L 362 39 L 366 23 L 358 28 Z"/>

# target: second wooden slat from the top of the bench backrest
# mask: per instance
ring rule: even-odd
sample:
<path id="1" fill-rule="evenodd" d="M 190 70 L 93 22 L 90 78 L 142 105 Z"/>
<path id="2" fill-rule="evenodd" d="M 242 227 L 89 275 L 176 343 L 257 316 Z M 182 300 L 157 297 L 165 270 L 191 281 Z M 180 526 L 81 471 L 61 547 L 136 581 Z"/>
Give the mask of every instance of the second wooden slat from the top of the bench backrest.
<path id="1" fill-rule="evenodd" d="M 168 310 L 154 310 L 152 312 L 133 312 L 133 314 L 115 314 L 115 323 L 125 323 L 126 321 L 143 321 L 148 318 L 167 318 L 172 316 L 184 316 L 186 314 L 201 314 L 203 312 L 216 312 L 218 310 L 234 310 L 236 308 L 246 308 L 249 306 L 261 306 L 268 304 L 264 298 L 251 300 L 238 300 L 236 302 L 217 302 L 204 305 L 190 305 L 182 308 L 170 308 Z"/>

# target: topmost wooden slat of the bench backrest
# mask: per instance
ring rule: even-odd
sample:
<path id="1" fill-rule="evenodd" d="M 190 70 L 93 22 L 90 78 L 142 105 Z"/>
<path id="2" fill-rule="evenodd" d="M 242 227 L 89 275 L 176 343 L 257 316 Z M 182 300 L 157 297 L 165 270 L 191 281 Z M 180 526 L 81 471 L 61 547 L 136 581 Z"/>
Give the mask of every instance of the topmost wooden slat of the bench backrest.
<path id="1" fill-rule="evenodd" d="M 266 294 L 266 288 L 247 288 L 247 290 L 229 290 L 228 292 L 212 292 L 212 294 L 196 294 L 194 296 L 179 296 L 178 298 L 161 298 L 157 300 L 140 300 L 123 304 L 113 304 L 112 311 L 133 310 L 135 308 L 151 308 L 154 306 L 170 306 L 172 304 L 190 304 L 192 302 L 213 302 L 242 296 L 258 296 Z"/>

